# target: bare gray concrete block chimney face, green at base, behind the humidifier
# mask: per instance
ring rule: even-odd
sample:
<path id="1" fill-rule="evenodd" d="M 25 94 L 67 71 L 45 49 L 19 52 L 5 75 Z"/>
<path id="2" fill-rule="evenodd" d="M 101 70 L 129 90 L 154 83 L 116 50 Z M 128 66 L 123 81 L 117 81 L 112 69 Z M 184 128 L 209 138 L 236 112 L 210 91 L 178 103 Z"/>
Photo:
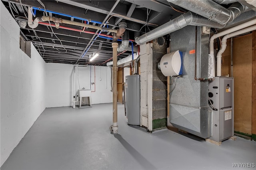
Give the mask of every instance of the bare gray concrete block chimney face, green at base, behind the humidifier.
<path id="1" fill-rule="evenodd" d="M 163 40 L 163 39 L 161 39 Z M 166 54 L 166 45 L 153 40 L 152 79 L 152 126 L 153 129 L 167 126 L 167 77 L 158 69 L 158 62 Z"/>

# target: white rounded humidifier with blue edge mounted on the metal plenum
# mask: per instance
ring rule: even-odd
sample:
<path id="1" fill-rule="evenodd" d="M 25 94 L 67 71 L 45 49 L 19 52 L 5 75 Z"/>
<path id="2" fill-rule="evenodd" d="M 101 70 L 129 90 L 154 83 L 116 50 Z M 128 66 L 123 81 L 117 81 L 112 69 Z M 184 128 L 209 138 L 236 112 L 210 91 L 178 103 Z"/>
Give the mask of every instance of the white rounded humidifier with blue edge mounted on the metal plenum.
<path id="1" fill-rule="evenodd" d="M 158 63 L 164 76 L 182 75 L 182 52 L 174 51 L 165 54 Z"/>

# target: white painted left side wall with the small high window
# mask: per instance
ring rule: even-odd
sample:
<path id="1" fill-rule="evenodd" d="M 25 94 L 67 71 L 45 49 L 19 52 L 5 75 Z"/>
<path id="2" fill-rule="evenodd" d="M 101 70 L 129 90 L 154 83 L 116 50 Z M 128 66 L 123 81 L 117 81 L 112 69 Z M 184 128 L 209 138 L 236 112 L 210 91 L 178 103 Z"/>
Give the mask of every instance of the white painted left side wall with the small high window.
<path id="1" fill-rule="evenodd" d="M 20 28 L 0 2 L 0 166 L 45 109 L 45 62 L 19 48 Z"/>

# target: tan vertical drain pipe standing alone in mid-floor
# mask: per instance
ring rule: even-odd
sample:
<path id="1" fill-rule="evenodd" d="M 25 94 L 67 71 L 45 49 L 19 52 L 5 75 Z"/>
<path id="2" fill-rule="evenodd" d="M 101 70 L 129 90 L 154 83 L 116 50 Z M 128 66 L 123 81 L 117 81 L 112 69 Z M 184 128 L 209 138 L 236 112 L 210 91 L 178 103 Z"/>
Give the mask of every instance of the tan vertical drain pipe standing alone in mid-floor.
<path id="1" fill-rule="evenodd" d="M 118 125 L 117 125 L 117 47 L 118 43 L 113 42 L 113 125 L 112 125 L 112 132 L 113 134 L 117 134 Z"/>

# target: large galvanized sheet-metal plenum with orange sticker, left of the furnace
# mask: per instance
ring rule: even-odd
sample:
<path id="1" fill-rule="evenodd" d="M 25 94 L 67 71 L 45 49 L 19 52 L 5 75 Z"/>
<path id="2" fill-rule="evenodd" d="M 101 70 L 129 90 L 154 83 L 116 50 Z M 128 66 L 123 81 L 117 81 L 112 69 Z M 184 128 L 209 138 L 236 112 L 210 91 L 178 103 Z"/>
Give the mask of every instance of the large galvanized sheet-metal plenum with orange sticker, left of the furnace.
<path id="1" fill-rule="evenodd" d="M 209 36 L 196 27 L 187 26 L 170 35 L 171 52 L 183 52 L 183 75 L 170 83 L 170 123 L 202 138 L 212 136 L 212 117 L 208 112 L 208 81 L 194 79 L 195 51 L 197 77 L 208 77 Z M 173 79 L 173 77 L 171 77 Z"/>

